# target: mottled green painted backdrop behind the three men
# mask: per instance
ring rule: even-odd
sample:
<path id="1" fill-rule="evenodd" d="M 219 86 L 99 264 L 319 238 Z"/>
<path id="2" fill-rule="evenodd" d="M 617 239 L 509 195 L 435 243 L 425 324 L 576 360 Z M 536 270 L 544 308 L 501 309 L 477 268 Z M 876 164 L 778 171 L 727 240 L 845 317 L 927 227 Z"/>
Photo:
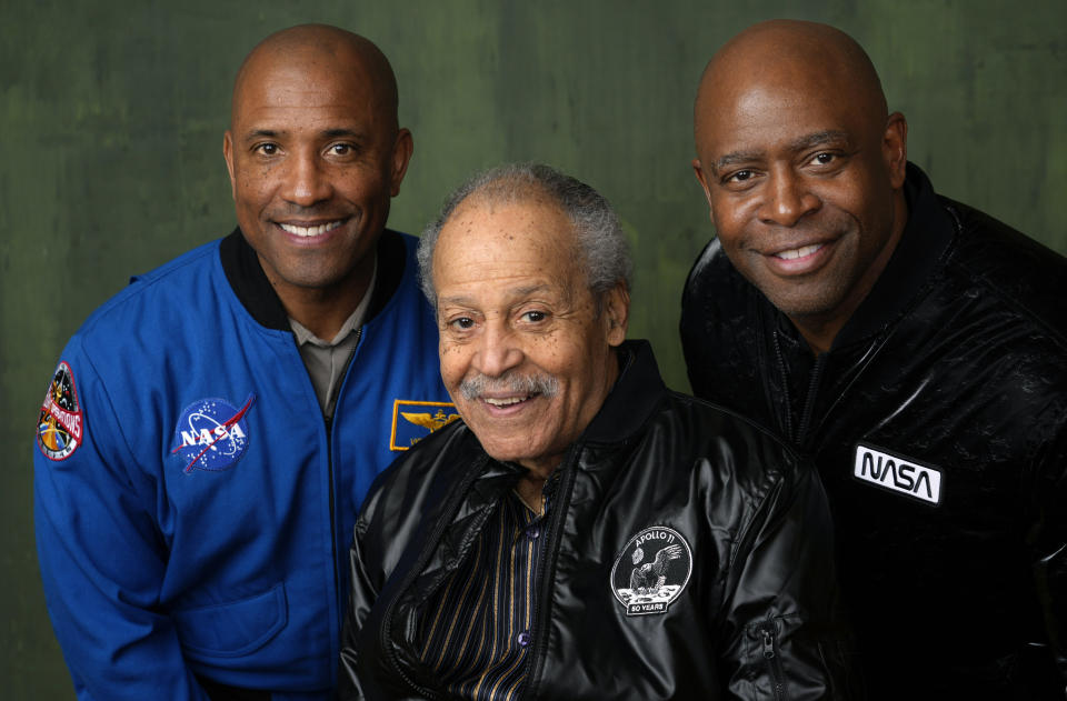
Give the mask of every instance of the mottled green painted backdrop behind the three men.
<path id="1" fill-rule="evenodd" d="M 32 428 L 58 353 L 129 274 L 232 227 L 221 134 L 256 41 L 325 21 L 391 58 L 416 139 L 396 228 L 418 231 L 501 161 L 601 190 L 636 252 L 631 336 L 685 389 L 679 292 L 711 236 L 689 168 L 692 94 L 715 48 L 770 17 L 852 33 L 938 189 L 1067 252 L 1063 0 L 0 0 L 0 695 L 72 698 L 32 527 Z"/>

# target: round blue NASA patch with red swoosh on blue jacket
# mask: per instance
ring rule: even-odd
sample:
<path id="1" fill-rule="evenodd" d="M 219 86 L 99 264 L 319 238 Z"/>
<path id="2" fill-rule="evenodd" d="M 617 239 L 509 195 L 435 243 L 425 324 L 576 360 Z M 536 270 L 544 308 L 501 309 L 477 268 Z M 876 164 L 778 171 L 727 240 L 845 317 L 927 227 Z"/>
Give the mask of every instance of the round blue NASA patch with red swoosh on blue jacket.
<path id="1" fill-rule="evenodd" d="M 248 449 L 248 422 L 245 414 L 256 401 L 249 394 L 238 409 L 225 399 L 200 399 L 181 412 L 174 428 L 174 448 L 185 472 L 208 470 L 218 472 L 232 467 Z"/>

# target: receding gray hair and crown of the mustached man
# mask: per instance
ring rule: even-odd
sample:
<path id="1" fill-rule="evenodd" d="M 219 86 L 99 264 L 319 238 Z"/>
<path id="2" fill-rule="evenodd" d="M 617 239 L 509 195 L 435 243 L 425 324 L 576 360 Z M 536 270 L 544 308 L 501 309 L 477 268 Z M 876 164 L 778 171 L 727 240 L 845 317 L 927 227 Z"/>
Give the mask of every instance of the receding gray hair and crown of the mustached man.
<path id="1" fill-rule="evenodd" d="M 575 227 L 589 291 L 598 307 L 604 296 L 620 282 L 630 289 L 634 264 L 622 236 L 622 226 L 611 204 L 586 183 L 541 163 L 509 163 L 480 172 L 445 201 L 441 213 L 422 231 L 419 240 L 419 284 L 437 307 L 433 289 L 433 249 L 441 229 L 468 198 L 508 203 L 547 197 Z"/>

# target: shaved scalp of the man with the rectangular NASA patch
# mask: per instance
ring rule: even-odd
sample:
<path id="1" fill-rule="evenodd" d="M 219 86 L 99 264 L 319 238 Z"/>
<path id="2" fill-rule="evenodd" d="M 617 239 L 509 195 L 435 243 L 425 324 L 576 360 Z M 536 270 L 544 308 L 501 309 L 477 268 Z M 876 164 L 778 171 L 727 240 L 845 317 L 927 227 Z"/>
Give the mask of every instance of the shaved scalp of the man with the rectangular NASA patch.
<path id="1" fill-rule="evenodd" d="M 847 100 L 879 127 L 888 117 L 878 73 L 855 39 L 828 24 L 770 20 L 730 39 L 705 68 L 694 113 L 697 152 L 708 136 L 706 118 L 720 106 L 754 89 L 798 88 L 811 99 Z"/>

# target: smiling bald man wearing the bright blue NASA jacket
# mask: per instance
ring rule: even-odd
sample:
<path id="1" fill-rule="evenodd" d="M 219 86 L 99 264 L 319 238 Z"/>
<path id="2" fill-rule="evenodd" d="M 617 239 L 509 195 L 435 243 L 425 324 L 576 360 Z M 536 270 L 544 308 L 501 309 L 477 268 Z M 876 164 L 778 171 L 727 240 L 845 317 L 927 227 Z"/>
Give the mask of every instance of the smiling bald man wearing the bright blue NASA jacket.
<path id="1" fill-rule="evenodd" d="M 353 512 L 428 432 L 397 414 L 451 414 L 416 240 L 385 230 L 411 136 L 381 52 L 269 37 L 223 153 L 239 228 L 90 317 L 39 414 L 38 553 L 81 699 L 332 698 Z"/>

